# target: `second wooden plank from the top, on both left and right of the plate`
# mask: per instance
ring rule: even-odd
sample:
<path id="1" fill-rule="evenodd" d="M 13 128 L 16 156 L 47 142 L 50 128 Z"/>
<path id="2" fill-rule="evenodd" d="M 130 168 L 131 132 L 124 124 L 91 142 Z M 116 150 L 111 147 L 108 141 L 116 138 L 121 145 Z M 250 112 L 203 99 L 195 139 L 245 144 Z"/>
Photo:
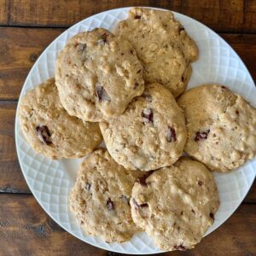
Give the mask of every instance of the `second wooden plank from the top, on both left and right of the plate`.
<path id="1" fill-rule="evenodd" d="M 18 99 L 38 55 L 64 29 L 0 27 L 0 100 Z M 256 79 L 256 35 L 220 34 L 236 50 Z"/>

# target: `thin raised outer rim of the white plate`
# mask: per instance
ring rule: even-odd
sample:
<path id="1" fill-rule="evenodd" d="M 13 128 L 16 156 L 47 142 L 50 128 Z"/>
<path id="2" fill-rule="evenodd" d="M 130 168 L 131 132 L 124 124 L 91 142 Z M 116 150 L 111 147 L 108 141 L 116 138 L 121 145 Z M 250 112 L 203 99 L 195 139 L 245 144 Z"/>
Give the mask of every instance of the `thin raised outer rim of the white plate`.
<path id="1" fill-rule="evenodd" d="M 158 9 L 158 10 L 164 10 L 164 11 L 172 11 L 172 10 L 170 10 L 170 9 L 160 9 L 160 8 L 153 8 L 153 7 L 148 7 L 148 6 L 147 6 L 147 7 L 140 6 L 140 7 L 141 7 L 141 8 L 146 8 L 146 9 Z M 95 16 L 97 16 L 97 15 L 102 15 L 102 14 L 104 14 L 104 13 L 108 13 L 108 11 L 113 11 L 113 10 L 116 10 L 116 11 L 118 11 L 118 10 L 123 10 L 123 11 L 125 11 L 125 12 L 128 12 L 128 10 L 131 9 L 131 8 L 133 8 L 133 7 L 124 7 L 124 8 L 118 8 L 118 9 L 108 9 L 108 10 L 102 11 L 102 12 L 100 12 L 100 13 L 97 13 L 97 14 L 95 14 L 95 15 L 90 15 L 89 17 L 85 18 L 84 20 L 91 19 L 91 18 L 93 18 L 93 17 L 95 17 Z M 237 58 L 239 61 L 241 61 L 241 65 L 245 68 L 245 71 L 246 71 L 247 74 L 248 74 L 248 78 L 251 79 L 252 84 L 253 84 L 254 87 L 255 87 L 255 84 L 254 84 L 254 81 L 253 81 L 253 79 L 252 79 L 251 73 L 249 73 L 249 71 L 248 71 L 246 65 L 245 65 L 244 62 L 241 60 L 240 56 L 236 53 L 236 51 L 230 46 L 230 44 L 228 44 L 228 43 L 224 40 L 224 38 L 222 38 L 221 36 L 219 36 L 218 33 L 217 33 L 217 32 L 214 32 L 210 27 L 204 25 L 203 23 L 201 23 L 201 22 L 198 21 L 198 20 L 195 20 L 194 18 L 191 18 L 191 17 L 189 17 L 189 16 L 187 16 L 187 15 L 183 15 L 183 14 L 177 13 L 177 12 L 175 12 L 175 11 L 172 11 L 172 13 L 173 13 L 174 15 L 180 15 L 180 16 L 183 16 L 183 17 L 185 17 L 185 18 L 189 18 L 191 21 L 193 21 L 193 22 L 195 22 L 195 23 L 198 23 L 199 25 L 203 26 L 205 29 L 207 29 L 208 31 L 212 32 L 215 36 L 217 36 L 218 39 L 220 39 L 221 41 L 223 41 L 223 43 L 224 43 L 228 48 L 230 48 L 231 52 L 232 52 L 234 55 L 236 55 L 236 58 Z M 73 24 L 73 26 L 68 27 L 64 32 L 62 32 L 57 38 L 55 38 L 55 39 L 44 49 L 44 51 L 43 51 L 43 52 L 40 54 L 40 56 L 38 57 L 38 60 L 33 64 L 32 68 L 30 69 L 29 73 L 27 74 L 26 80 L 25 80 L 24 84 L 22 85 L 22 89 L 20 90 L 20 96 L 22 96 L 22 95 L 24 94 L 25 84 L 27 83 L 27 80 L 30 78 L 31 73 L 32 73 L 32 71 L 34 70 L 34 68 L 36 68 L 36 67 L 38 66 L 38 62 L 40 61 L 41 56 L 44 55 L 44 53 L 48 51 L 48 49 L 51 47 L 51 45 L 54 44 L 55 41 L 58 41 L 58 39 L 61 38 L 61 36 L 62 36 L 63 34 L 67 33 L 69 30 L 72 30 L 74 26 L 78 26 L 80 23 L 84 22 L 84 20 L 80 20 L 80 21 L 78 21 L 77 23 Z M 29 188 L 29 189 L 31 190 L 31 192 L 32 192 L 32 195 L 34 196 L 34 198 L 36 199 L 36 201 L 38 201 L 39 206 L 44 209 L 44 212 L 46 212 L 46 213 L 49 215 L 49 217 L 52 218 L 52 219 L 55 221 L 56 224 L 60 225 L 63 230 L 66 230 L 67 233 L 69 233 L 69 234 L 71 234 L 72 236 L 78 238 L 80 241 L 83 241 L 83 242 L 86 242 L 86 243 L 90 244 L 91 246 L 99 247 L 99 248 L 101 248 L 101 249 L 103 249 L 103 250 L 108 250 L 108 251 L 110 251 L 109 249 L 106 249 L 105 247 L 102 247 L 102 246 L 100 246 L 100 245 L 98 245 L 98 244 L 96 245 L 96 244 L 92 244 L 90 241 L 84 241 L 81 237 L 79 237 L 79 236 L 73 234 L 72 232 L 70 232 L 69 230 L 67 230 L 61 223 L 59 223 L 59 222 L 51 215 L 51 213 L 50 213 L 49 211 L 47 211 L 47 209 L 43 206 L 43 204 L 42 204 L 41 201 L 39 200 L 38 196 L 33 193 L 33 189 L 32 189 L 32 187 L 31 187 L 31 184 L 28 182 L 27 177 L 26 177 L 26 174 L 25 174 L 25 171 L 23 170 L 25 167 L 21 165 L 21 162 L 22 162 L 22 161 L 20 160 L 20 148 L 19 148 L 19 146 L 18 146 L 18 137 L 19 137 L 19 132 L 18 132 L 18 125 L 19 125 L 18 109 L 19 109 L 19 107 L 20 107 L 20 96 L 19 96 L 19 101 L 18 101 L 18 103 L 17 103 L 16 113 L 15 113 L 15 148 L 16 148 L 16 152 L 17 152 L 17 155 L 18 155 L 18 160 L 19 160 L 19 165 L 20 165 L 21 172 L 22 172 L 22 174 L 23 174 L 23 177 L 24 177 L 25 180 L 26 180 L 26 184 L 27 184 L 28 188 Z M 256 101 L 255 101 L 255 102 L 256 102 Z M 221 225 L 223 225 L 223 224 L 234 214 L 234 212 L 236 212 L 237 208 L 240 207 L 242 201 L 243 201 L 244 198 L 247 196 L 248 191 L 251 189 L 251 187 L 252 187 L 252 185 L 253 185 L 253 182 L 254 182 L 254 180 L 255 180 L 255 177 L 256 177 L 256 174 L 254 174 L 254 177 L 252 178 L 251 183 L 248 184 L 246 193 L 245 193 L 245 195 L 241 198 L 240 204 L 239 204 L 236 208 L 234 208 L 233 212 L 230 212 L 230 215 L 228 215 L 228 216 L 224 219 L 224 221 L 222 222 L 222 224 L 219 224 L 218 227 L 216 227 L 214 230 L 217 230 Z M 211 231 L 210 233 L 208 233 L 207 235 L 210 235 L 214 230 L 212 230 L 212 231 Z M 203 237 L 205 237 L 205 236 L 203 236 Z M 111 249 L 111 251 L 112 251 L 112 252 L 115 252 L 115 253 L 124 253 L 124 252 L 119 252 L 118 250 L 113 250 L 113 249 Z M 159 252 L 159 253 L 164 253 L 164 252 L 165 252 L 165 251 L 161 251 L 161 252 Z M 144 254 L 144 253 L 141 253 L 141 252 L 137 252 L 137 253 L 126 252 L 126 253 L 130 253 L 130 254 Z M 157 253 L 157 252 L 150 252 L 150 253 L 147 253 L 147 254 L 154 254 L 154 253 Z"/>

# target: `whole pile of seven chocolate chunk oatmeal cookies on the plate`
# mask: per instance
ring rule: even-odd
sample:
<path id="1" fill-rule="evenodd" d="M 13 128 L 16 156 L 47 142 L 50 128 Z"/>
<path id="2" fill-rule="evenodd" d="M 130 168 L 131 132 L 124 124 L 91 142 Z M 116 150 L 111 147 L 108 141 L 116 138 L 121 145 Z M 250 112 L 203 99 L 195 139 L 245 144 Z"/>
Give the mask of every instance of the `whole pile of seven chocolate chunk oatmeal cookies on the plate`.
<path id="1" fill-rule="evenodd" d="M 122 242 L 145 231 L 160 249 L 186 250 L 212 225 L 209 170 L 254 157 L 256 110 L 218 84 L 185 91 L 197 58 L 171 12 L 134 8 L 114 33 L 69 39 L 55 79 L 21 99 L 20 125 L 38 153 L 89 154 L 70 194 L 87 234 Z M 97 148 L 102 137 L 107 149 Z"/>

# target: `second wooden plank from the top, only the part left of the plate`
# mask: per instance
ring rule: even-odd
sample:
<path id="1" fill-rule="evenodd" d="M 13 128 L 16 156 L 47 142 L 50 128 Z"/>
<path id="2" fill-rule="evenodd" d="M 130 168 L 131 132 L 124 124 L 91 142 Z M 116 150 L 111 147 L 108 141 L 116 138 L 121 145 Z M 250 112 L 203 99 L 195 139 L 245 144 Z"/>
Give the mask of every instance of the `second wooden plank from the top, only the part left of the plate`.
<path id="1" fill-rule="evenodd" d="M 62 31 L 0 26 L 0 99 L 18 99 L 38 55 Z"/>

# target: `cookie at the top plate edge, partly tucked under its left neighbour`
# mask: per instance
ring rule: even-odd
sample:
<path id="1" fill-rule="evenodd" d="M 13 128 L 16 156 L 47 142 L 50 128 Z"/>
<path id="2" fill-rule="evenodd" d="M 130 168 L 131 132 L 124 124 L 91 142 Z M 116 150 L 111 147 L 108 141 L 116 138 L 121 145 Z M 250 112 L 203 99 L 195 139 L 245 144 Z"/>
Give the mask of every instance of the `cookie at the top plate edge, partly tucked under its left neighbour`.
<path id="1" fill-rule="evenodd" d="M 145 82 L 159 82 L 177 97 L 188 84 L 198 48 L 172 12 L 132 8 L 115 33 L 128 39 L 143 63 Z"/>

